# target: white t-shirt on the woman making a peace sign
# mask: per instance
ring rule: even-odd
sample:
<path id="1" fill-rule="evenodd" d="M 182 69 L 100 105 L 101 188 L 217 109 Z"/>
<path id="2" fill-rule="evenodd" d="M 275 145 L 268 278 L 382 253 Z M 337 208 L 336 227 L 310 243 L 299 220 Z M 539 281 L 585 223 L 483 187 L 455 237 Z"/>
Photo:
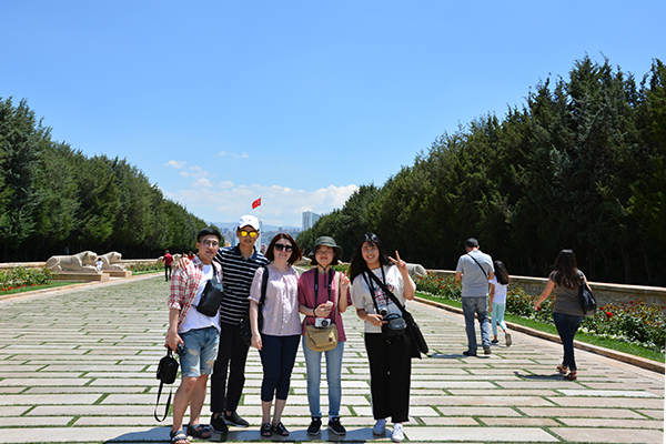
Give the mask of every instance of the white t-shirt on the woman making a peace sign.
<path id="1" fill-rule="evenodd" d="M 372 270 L 372 272 L 382 280 L 382 269 Z M 400 301 L 400 303 L 405 305 L 405 297 L 403 295 L 404 292 L 404 281 L 401 272 L 397 270 L 397 266 L 391 265 L 384 266 L 384 274 L 386 276 L 386 287 L 395 295 L 395 297 Z M 411 280 L 412 278 L 410 278 Z M 371 285 L 374 289 L 374 295 L 376 296 L 377 305 L 386 304 L 386 310 L 389 313 L 397 313 L 402 316 L 402 311 L 397 305 L 395 305 L 391 299 L 389 299 L 384 291 L 369 278 Z M 387 300 L 387 301 L 386 301 Z M 367 282 L 363 278 L 363 274 L 359 274 L 354 278 L 354 282 L 352 283 L 352 302 L 356 309 L 365 310 L 366 313 L 373 314 L 376 313 L 374 303 L 372 302 L 372 293 L 367 286 Z M 365 321 L 365 332 L 366 333 L 382 333 L 381 326 L 375 326 L 371 324 L 369 321 Z"/>

